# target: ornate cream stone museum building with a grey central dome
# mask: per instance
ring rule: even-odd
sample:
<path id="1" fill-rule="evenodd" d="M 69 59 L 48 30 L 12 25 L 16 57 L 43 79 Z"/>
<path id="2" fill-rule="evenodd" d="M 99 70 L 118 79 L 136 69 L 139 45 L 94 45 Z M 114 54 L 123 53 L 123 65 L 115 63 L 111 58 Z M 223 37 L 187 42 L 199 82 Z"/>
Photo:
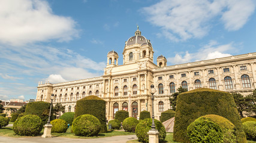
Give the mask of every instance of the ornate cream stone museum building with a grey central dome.
<path id="1" fill-rule="evenodd" d="M 143 110 L 152 113 L 150 85 L 156 89 L 154 114 L 159 120 L 161 112 L 170 109 L 169 97 L 177 88 L 211 88 L 225 92 L 251 94 L 256 88 L 256 52 L 167 66 L 160 55 L 153 63 L 153 48 L 149 39 L 135 31 L 125 42 L 123 64 L 118 64 L 115 51 L 107 54 L 103 76 L 63 83 L 38 83 L 36 101 L 61 102 L 65 111 L 75 111 L 76 101 L 96 95 L 106 101 L 106 117 L 114 119 L 118 110 L 129 111 L 138 118 Z"/>

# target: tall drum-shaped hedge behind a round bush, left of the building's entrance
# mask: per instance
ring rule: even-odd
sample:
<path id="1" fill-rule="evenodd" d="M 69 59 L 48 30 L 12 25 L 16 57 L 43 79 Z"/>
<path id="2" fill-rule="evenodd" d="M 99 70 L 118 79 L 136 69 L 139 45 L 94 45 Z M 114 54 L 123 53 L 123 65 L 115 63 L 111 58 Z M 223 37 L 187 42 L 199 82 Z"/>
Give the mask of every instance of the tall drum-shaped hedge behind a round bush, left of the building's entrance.
<path id="1" fill-rule="evenodd" d="M 74 118 L 79 117 L 83 114 L 91 114 L 97 117 L 101 122 L 100 132 L 107 132 L 106 101 L 94 95 L 78 100 L 76 104 L 76 113 Z"/>

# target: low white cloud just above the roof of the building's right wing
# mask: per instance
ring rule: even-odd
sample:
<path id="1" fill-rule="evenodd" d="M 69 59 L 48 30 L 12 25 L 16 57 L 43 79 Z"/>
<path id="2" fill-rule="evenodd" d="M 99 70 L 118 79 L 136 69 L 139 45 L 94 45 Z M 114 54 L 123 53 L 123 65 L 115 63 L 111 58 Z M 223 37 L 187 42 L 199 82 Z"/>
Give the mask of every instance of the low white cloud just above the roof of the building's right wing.
<path id="1" fill-rule="evenodd" d="M 231 56 L 224 52 L 233 52 L 236 50 L 233 43 L 228 43 L 225 45 L 219 45 L 216 41 L 210 41 L 207 45 L 204 45 L 197 52 L 189 53 L 177 53 L 174 57 L 168 57 L 167 61 L 171 64 L 182 64 L 189 63 L 193 61 L 209 60 L 213 58 L 222 58 Z"/>

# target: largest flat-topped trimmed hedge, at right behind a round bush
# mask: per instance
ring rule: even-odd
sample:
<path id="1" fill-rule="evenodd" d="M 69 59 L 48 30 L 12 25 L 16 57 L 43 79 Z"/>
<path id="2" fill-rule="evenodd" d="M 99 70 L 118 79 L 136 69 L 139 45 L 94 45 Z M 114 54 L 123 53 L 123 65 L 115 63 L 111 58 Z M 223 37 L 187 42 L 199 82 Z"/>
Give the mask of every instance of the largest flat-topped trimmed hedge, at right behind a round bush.
<path id="1" fill-rule="evenodd" d="M 188 142 L 186 128 L 198 117 L 216 114 L 230 120 L 237 129 L 237 142 L 246 142 L 242 122 L 231 94 L 214 89 L 199 88 L 177 97 L 173 139 Z"/>

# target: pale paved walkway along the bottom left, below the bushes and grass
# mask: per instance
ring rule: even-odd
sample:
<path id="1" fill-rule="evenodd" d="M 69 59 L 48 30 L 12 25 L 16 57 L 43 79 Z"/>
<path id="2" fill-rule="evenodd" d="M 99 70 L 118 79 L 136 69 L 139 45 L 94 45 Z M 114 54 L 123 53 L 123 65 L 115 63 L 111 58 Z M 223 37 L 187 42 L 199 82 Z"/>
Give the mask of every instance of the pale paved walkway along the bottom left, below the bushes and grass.
<path id="1" fill-rule="evenodd" d="M 136 135 L 125 135 L 125 136 L 112 136 L 106 138 L 94 138 L 94 139 L 71 139 L 71 138 L 61 138 L 61 137 L 53 137 L 53 138 L 41 138 L 41 137 L 32 137 L 32 138 L 10 138 L 5 136 L 0 136 L 0 142 L 5 143 L 71 143 L 71 142 L 79 142 L 79 143 L 125 143 L 132 139 L 138 139 Z"/>

